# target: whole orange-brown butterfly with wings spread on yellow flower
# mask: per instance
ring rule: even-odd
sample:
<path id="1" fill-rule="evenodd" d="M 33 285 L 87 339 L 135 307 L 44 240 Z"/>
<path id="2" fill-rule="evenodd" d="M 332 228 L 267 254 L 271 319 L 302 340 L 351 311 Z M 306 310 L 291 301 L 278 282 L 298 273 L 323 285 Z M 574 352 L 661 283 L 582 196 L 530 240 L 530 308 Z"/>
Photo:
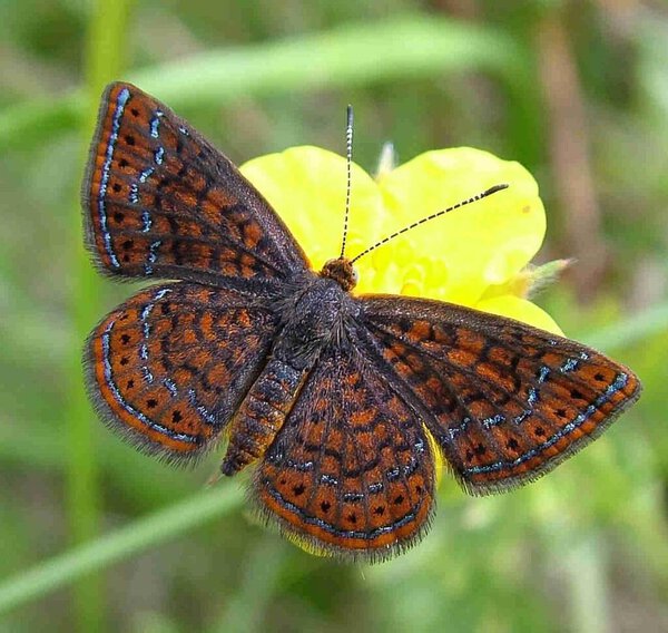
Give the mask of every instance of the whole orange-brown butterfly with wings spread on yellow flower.
<path id="1" fill-rule="evenodd" d="M 82 206 L 105 273 L 171 280 L 90 334 L 101 419 L 170 462 L 226 438 L 222 474 L 254 465 L 261 516 L 318 553 L 374 562 L 415 544 L 436 452 L 468 493 L 505 490 L 639 396 L 631 370 L 574 341 L 450 303 L 354 295 L 343 255 L 314 272 L 232 162 L 129 84 L 102 95 Z"/>

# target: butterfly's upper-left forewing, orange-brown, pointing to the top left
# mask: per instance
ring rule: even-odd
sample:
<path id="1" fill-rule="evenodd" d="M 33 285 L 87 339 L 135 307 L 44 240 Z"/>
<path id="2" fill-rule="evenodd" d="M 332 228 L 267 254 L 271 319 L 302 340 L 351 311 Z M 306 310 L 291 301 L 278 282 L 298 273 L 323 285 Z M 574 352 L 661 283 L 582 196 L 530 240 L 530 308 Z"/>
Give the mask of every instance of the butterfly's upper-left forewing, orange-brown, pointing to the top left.
<path id="1" fill-rule="evenodd" d="M 102 96 L 82 198 L 89 242 L 107 272 L 256 288 L 306 267 L 236 167 L 129 84 L 111 84 Z"/>

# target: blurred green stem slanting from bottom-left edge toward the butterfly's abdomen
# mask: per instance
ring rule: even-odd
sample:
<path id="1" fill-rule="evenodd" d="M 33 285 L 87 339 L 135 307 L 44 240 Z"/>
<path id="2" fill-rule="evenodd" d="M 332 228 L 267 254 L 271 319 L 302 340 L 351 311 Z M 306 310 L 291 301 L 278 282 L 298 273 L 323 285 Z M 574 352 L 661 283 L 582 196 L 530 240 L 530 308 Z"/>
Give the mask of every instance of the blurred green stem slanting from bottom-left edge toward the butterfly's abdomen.
<path id="1" fill-rule="evenodd" d="M 239 508 L 243 500 L 238 484 L 225 488 L 216 486 L 46 561 L 0 584 L 0 614 L 229 514 Z"/>

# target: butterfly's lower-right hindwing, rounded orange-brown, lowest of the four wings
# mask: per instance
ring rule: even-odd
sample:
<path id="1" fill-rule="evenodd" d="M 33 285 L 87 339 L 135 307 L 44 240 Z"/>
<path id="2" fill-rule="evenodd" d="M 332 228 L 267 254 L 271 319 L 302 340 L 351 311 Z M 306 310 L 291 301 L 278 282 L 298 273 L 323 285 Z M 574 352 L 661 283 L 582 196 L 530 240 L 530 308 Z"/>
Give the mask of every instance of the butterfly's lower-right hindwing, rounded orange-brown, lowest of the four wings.
<path id="1" fill-rule="evenodd" d="M 254 496 L 307 548 L 379 561 L 414 544 L 433 510 L 421 421 L 360 354 L 332 348 L 262 460 Z"/>

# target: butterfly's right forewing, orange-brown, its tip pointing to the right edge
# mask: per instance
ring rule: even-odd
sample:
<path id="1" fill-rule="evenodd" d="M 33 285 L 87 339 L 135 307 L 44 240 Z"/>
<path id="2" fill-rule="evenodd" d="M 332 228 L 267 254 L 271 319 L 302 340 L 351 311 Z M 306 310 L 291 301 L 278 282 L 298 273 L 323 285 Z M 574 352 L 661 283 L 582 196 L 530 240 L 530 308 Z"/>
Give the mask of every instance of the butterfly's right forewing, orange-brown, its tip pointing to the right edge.
<path id="1" fill-rule="evenodd" d="M 367 353 L 424 416 L 471 493 L 523 484 L 639 395 L 626 367 L 518 321 L 428 300 L 364 299 Z"/>

